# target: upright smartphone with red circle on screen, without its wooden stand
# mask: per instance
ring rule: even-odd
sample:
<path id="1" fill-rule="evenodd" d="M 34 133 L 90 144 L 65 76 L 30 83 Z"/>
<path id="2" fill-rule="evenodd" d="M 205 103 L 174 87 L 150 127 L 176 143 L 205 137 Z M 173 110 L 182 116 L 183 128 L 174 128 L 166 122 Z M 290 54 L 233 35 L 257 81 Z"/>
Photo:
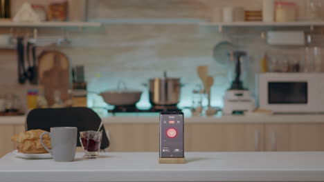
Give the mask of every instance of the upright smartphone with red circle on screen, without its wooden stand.
<path id="1" fill-rule="evenodd" d="M 160 112 L 160 158 L 184 158 L 183 112 Z"/>

